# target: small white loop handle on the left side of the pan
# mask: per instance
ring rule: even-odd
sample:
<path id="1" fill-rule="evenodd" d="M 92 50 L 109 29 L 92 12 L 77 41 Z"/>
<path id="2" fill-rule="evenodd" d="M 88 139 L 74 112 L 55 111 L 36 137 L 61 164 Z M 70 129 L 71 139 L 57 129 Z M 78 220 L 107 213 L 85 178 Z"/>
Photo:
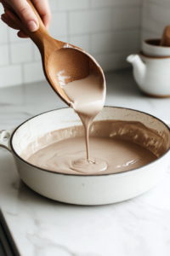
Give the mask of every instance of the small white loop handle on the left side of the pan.
<path id="1" fill-rule="evenodd" d="M 0 131 L 0 147 L 8 149 L 11 152 L 10 138 L 13 134 L 14 129 Z"/>

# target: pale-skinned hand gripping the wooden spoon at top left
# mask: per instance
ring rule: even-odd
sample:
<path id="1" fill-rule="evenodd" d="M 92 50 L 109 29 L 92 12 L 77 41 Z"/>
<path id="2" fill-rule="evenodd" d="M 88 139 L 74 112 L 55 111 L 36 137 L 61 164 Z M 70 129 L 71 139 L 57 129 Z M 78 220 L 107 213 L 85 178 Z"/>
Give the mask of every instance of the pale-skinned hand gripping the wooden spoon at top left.
<path id="1" fill-rule="evenodd" d="M 39 27 L 37 17 L 26 0 L 0 0 L 0 2 L 9 3 L 16 14 L 19 15 L 20 20 L 22 20 L 22 22 L 28 27 L 28 29 L 31 32 L 37 31 Z M 48 29 L 51 22 L 51 11 L 49 8 L 48 0 L 31 0 L 31 2 L 36 7 L 37 12 L 42 18 L 43 24 Z M 3 20 L 3 22 L 11 28 L 20 30 L 20 28 L 15 23 L 16 16 L 11 11 L 6 10 L 5 14 L 1 15 L 1 20 Z M 19 31 L 17 34 L 20 38 L 27 38 L 26 34 L 22 31 Z"/>

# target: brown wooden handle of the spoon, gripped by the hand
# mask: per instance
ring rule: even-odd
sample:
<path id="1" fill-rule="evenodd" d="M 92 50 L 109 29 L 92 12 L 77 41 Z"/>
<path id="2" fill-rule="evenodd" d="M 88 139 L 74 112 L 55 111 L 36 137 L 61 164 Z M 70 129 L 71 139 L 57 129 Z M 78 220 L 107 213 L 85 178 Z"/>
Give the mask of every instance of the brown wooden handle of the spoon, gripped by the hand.
<path id="1" fill-rule="evenodd" d="M 26 0 L 30 6 L 31 9 L 34 11 L 35 15 L 37 16 L 37 20 L 39 22 L 39 28 L 36 32 L 30 32 L 29 29 L 26 27 L 26 25 L 20 20 L 19 16 L 15 13 L 14 9 L 10 6 L 10 4 L 8 4 L 5 1 L 2 1 L 3 3 L 3 8 L 4 10 L 10 10 L 11 12 L 14 13 L 14 15 L 16 15 L 16 24 L 20 27 L 20 30 L 22 30 L 23 32 L 26 33 L 26 35 L 31 38 L 31 40 L 37 44 L 38 49 L 40 49 L 41 53 L 44 50 L 44 44 L 45 42 L 47 42 L 47 40 L 50 40 L 50 36 L 48 34 L 48 31 L 46 29 L 46 27 L 43 25 L 42 19 L 40 18 L 39 14 L 37 13 L 37 9 L 35 8 L 35 6 L 33 5 L 33 3 L 31 2 L 31 0 Z M 0 0 L 1 2 L 1 0 Z M 57 43 L 57 42 L 56 42 Z M 56 44 L 55 44 L 55 48 L 56 48 Z M 60 48 L 60 47 L 59 47 Z"/>

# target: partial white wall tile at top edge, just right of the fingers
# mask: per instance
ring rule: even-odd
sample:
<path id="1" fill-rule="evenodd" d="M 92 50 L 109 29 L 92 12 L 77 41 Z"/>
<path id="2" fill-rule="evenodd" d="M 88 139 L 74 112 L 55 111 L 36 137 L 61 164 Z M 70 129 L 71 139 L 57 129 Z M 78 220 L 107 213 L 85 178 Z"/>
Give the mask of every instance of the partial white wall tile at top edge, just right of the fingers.
<path id="1" fill-rule="evenodd" d="M 88 9 L 88 0 L 58 0 L 59 10 Z"/>

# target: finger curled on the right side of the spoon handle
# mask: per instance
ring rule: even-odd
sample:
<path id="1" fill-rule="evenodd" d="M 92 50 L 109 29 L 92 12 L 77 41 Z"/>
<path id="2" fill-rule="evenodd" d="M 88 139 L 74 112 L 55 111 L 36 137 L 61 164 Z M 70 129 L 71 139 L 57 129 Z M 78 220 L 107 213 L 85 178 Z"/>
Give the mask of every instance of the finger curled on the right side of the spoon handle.
<path id="1" fill-rule="evenodd" d="M 41 16 L 43 24 L 48 29 L 51 23 L 51 11 L 49 8 L 48 0 L 32 0 L 32 3 L 34 4 L 37 12 Z"/>

